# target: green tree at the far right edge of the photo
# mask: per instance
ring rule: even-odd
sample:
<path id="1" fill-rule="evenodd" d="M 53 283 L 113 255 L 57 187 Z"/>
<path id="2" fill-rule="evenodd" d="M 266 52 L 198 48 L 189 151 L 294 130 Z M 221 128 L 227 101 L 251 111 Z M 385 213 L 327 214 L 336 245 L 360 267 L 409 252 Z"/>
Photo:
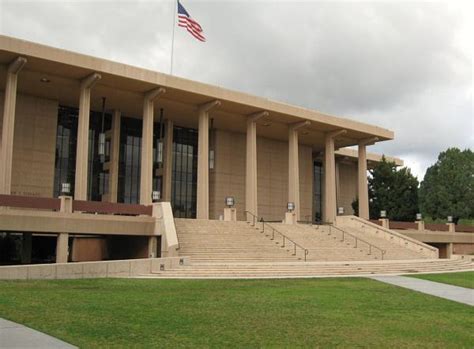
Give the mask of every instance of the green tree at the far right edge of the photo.
<path id="1" fill-rule="evenodd" d="M 420 207 L 433 219 L 474 218 L 474 152 L 449 148 L 439 154 L 421 182 Z"/>

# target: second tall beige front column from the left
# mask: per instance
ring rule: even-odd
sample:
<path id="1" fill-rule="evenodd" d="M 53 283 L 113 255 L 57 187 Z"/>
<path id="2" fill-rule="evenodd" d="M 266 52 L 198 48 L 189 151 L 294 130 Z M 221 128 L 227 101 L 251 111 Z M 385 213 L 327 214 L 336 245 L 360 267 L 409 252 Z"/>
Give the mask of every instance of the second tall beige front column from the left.
<path id="1" fill-rule="evenodd" d="M 77 126 L 76 178 L 74 182 L 74 198 L 76 200 L 87 200 L 91 89 L 100 79 L 99 74 L 93 73 L 81 81 Z"/>

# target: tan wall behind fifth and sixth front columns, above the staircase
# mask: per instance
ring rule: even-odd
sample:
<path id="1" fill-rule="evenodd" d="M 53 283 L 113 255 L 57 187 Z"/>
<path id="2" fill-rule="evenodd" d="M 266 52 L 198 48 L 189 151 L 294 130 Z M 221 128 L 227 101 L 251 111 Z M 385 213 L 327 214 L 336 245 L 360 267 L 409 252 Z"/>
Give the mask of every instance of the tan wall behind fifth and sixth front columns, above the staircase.
<path id="1" fill-rule="evenodd" d="M 216 130 L 214 134 L 215 168 L 210 170 L 210 218 L 223 214 L 226 196 L 236 201 L 238 219 L 244 219 L 245 210 L 245 156 L 244 133 Z M 258 215 L 267 220 L 282 220 L 288 202 L 288 143 L 259 137 L 258 161 Z M 301 217 L 312 213 L 313 170 L 312 150 L 299 147 Z"/>

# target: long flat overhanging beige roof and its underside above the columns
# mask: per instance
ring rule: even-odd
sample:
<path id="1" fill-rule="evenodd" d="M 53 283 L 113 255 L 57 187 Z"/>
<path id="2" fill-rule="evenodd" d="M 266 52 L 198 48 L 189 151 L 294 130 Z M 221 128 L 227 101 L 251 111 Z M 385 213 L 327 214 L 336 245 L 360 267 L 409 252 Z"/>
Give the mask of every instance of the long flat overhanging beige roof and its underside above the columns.
<path id="1" fill-rule="evenodd" d="M 268 111 L 269 116 L 258 123 L 259 136 L 288 139 L 289 124 L 309 120 L 311 125 L 300 133 L 300 142 L 315 150 L 324 147 L 324 133 L 339 129 L 347 133 L 336 139 L 337 147 L 356 145 L 370 137 L 377 137 L 378 141 L 394 137 L 393 131 L 378 126 L 3 35 L 0 35 L 0 81 L 5 81 L 6 65 L 20 55 L 28 62 L 19 76 L 19 93 L 69 105 L 78 105 L 79 81 L 97 72 L 102 79 L 94 87 L 93 95 L 106 96 L 110 108 L 130 116 L 141 116 L 144 93 L 164 87 L 166 93 L 155 103 L 155 108 L 159 104 L 171 110 L 170 119 L 183 126 L 197 125 L 196 106 L 217 99 L 222 104 L 211 115 L 216 128 L 245 132 L 246 115 Z M 51 84 L 41 83 L 42 77 L 47 77 Z M 100 110 L 100 98 L 91 100 L 91 108 Z"/>

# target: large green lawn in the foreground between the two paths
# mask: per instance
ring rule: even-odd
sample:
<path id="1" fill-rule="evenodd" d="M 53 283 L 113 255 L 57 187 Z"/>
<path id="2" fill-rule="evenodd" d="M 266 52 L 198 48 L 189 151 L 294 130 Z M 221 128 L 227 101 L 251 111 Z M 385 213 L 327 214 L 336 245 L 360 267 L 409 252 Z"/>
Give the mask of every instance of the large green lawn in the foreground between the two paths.
<path id="1" fill-rule="evenodd" d="M 0 317 L 81 348 L 474 346 L 473 307 L 363 278 L 3 281 Z"/>

